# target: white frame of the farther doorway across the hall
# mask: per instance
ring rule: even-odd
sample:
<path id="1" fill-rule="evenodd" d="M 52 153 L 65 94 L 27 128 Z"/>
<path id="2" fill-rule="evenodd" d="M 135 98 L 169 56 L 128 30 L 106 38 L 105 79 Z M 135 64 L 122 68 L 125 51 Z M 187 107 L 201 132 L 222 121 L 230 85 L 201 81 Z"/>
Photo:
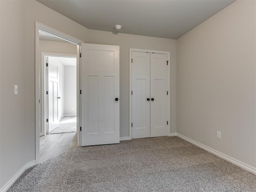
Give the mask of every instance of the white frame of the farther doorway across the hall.
<path id="1" fill-rule="evenodd" d="M 47 82 L 46 82 L 46 57 L 47 56 L 54 56 L 54 57 L 68 57 L 68 58 L 76 58 L 77 55 L 74 54 L 62 54 L 62 53 L 48 53 L 48 52 L 42 52 L 42 73 L 41 73 L 41 80 L 42 80 L 42 101 L 41 101 L 41 106 L 42 106 L 42 133 L 40 132 L 40 136 L 46 135 L 46 129 L 47 129 L 47 124 L 46 124 L 46 118 L 47 118 L 47 102 L 46 102 L 46 95 L 43 93 L 46 93 L 47 90 Z"/>

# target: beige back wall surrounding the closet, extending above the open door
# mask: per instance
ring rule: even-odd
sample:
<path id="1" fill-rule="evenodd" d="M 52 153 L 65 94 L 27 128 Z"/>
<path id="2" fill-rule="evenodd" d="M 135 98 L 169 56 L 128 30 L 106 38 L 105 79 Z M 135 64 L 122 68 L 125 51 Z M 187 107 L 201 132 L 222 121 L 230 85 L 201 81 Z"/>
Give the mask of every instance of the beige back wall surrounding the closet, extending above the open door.
<path id="1" fill-rule="evenodd" d="M 170 132 L 176 132 L 176 40 L 89 30 L 86 43 L 120 46 L 120 136 L 129 136 L 129 48 L 170 51 Z"/>

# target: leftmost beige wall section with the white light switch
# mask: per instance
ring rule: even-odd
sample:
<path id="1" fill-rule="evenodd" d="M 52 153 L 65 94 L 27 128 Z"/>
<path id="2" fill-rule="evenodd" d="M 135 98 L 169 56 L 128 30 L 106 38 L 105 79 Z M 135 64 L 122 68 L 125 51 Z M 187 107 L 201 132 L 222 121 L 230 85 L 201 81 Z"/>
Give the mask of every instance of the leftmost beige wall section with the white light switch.
<path id="1" fill-rule="evenodd" d="M 24 50 L 23 2 L 0 1 L 0 9 L 1 188 L 21 168 L 21 165 L 34 159 L 34 152 L 29 152 L 28 155 L 26 148 L 31 143 L 32 146 L 34 145 L 34 139 L 27 137 L 30 135 L 29 130 L 33 127 L 26 127 L 26 121 L 33 121 L 34 115 L 26 119 L 26 112 L 24 112 L 27 110 L 27 84 L 24 81 L 26 60 L 22 51 Z M 18 85 L 18 95 L 14 95 L 14 85 Z M 33 149 L 30 147 L 30 150 Z"/>

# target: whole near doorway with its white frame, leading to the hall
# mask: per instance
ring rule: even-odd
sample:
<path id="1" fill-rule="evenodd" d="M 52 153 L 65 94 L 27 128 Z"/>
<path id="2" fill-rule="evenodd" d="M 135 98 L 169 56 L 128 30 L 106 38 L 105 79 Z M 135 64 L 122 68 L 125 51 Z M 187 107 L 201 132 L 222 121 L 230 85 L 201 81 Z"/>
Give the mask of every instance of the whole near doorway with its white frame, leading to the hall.
<path id="1" fill-rule="evenodd" d="M 36 22 L 36 164 L 80 146 L 80 44 Z"/>

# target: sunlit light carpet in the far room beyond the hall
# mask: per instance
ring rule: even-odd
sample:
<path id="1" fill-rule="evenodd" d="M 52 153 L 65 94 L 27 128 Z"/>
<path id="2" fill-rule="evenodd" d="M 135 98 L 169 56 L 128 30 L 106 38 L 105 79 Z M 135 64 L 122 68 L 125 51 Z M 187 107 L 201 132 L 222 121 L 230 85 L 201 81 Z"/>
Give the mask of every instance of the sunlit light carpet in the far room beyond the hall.
<path id="1" fill-rule="evenodd" d="M 60 126 L 48 134 L 76 132 L 76 116 L 64 116 L 60 120 Z"/>

